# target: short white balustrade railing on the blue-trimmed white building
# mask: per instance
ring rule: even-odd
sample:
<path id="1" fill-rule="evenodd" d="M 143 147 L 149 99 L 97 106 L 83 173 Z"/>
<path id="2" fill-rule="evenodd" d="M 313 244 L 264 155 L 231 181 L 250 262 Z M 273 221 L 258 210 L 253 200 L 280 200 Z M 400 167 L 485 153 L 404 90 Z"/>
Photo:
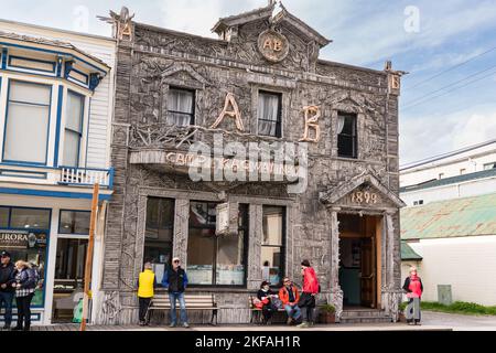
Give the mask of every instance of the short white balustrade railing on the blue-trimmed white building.
<path id="1" fill-rule="evenodd" d="M 100 186 L 112 188 L 114 169 L 82 169 L 82 168 L 61 168 L 60 184 L 67 185 L 93 185 L 98 183 Z"/>

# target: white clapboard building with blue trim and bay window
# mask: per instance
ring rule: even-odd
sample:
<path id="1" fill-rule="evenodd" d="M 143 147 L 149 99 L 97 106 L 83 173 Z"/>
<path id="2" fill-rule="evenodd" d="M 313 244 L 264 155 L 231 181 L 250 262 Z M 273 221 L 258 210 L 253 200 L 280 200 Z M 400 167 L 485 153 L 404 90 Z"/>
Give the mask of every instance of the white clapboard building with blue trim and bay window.
<path id="1" fill-rule="evenodd" d="M 112 39 L 0 20 L 0 250 L 39 266 L 33 324 L 73 319 L 95 183 L 100 281 L 115 55 Z"/>

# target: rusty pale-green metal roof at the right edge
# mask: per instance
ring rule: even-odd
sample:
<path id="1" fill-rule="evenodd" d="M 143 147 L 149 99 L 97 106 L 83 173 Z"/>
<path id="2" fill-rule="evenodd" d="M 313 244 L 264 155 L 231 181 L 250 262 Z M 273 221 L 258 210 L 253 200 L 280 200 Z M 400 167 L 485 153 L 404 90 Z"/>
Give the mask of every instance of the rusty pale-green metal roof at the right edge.
<path id="1" fill-rule="evenodd" d="M 401 239 L 496 235 L 496 193 L 401 210 Z"/>

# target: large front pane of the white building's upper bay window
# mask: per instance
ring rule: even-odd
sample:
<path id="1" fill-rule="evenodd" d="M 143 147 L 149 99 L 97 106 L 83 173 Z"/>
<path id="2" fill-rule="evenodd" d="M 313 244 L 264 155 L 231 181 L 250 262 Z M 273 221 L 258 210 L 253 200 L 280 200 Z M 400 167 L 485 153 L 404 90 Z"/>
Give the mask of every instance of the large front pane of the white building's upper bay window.
<path id="1" fill-rule="evenodd" d="M 12 81 L 3 161 L 46 164 L 52 86 Z"/>

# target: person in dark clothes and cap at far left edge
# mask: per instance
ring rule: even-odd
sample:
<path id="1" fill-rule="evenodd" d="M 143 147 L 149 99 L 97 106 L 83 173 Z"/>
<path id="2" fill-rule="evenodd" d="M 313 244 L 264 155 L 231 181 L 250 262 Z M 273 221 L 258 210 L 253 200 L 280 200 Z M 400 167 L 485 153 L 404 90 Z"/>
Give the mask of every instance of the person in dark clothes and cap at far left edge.
<path id="1" fill-rule="evenodd" d="M 10 330 L 12 323 L 12 302 L 15 295 L 15 288 L 12 287 L 15 282 L 15 267 L 8 252 L 1 252 L 0 257 L 0 310 L 2 307 L 6 308 L 3 318 L 6 324 L 3 325 L 3 330 Z"/>

